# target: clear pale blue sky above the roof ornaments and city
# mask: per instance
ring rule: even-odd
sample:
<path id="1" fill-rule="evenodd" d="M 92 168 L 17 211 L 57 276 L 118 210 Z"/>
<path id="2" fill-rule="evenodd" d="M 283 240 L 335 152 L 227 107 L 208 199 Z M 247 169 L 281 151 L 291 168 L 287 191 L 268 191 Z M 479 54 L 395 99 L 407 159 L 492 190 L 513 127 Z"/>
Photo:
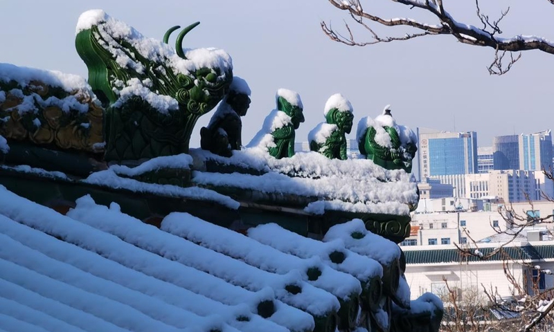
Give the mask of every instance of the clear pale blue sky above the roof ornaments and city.
<path id="1" fill-rule="evenodd" d="M 384 17 L 416 16 L 414 10 L 375 0 L 375 12 Z M 546 0 L 488 0 L 491 17 L 511 6 L 503 30 L 506 37 L 521 33 L 554 40 L 554 6 Z M 367 5 L 368 6 L 368 5 Z M 445 1 L 458 20 L 478 24 L 473 1 Z M 217 47 L 233 57 L 235 75 L 252 89 L 252 104 L 243 120 L 247 143 L 274 108 L 278 88 L 300 93 L 305 118 L 296 133 L 307 133 L 323 121 L 325 101 L 343 93 L 352 102 L 355 124 L 375 117 L 392 104 L 399 124 L 412 128 L 477 131 L 479 146 L 492 136 L 530 133 L 553 126 L 554 55 L 524 53 L 510 73 L 488 75 L 494 50 L 434 36 L 354 48 L 332 42 L 319 22 L 341 26 L 345 13 L 325 0 L 204 0 L 204 1 L 30 1 L 0 0 L 0 62 L 54 69 L 87 77 L 87 68 L 75 52 L 75 24 L 81 12 L 103 9 L 134 26 L 143 35 L 161 39 L 170 26 L 201 24 L 185 40 L 186 48 Z M 398 33 L 401 29 L 377 29 Z M 360 38 L 367 36 L 364 33 Z M 201 118 L 191 147 L 199 145 L 198 131 L 211 114 Z M 354 138 L 355 133 L 350 134 Z"/>

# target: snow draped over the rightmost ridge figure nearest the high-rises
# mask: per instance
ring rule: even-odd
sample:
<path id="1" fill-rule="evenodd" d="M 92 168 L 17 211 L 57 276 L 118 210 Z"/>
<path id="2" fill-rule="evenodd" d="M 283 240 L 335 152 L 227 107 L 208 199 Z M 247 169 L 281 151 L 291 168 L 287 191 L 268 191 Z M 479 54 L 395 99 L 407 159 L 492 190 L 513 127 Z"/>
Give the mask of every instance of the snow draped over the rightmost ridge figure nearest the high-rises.
<path id="1" fill-rule="evenodd" d="M 410 129 L 410 127 L 402 126 L 396 124 L 396 121 L 392 116 L 386 115 L 385 112 L 390 109 L 391 105 L 386 105 L 383 110 L 383 113 L 377 116 L 375 119 L 366 116 L 361 118 L 358 122 L 358 128 L 356 131 L 356 139 L 358 142 L 364 140 L 364 136 L 369 127 L 375 129 L 375 142 L 382 147 L 393 147 L 393 142 L 391 136 L 385 131 L 383 127 L 391 127 L 396 130 L 398 136 L 400 136 L 400 144 L 406 145 L 408 143 L 416 144 L 418 138 L 415 136 L 415 133 Z"/>

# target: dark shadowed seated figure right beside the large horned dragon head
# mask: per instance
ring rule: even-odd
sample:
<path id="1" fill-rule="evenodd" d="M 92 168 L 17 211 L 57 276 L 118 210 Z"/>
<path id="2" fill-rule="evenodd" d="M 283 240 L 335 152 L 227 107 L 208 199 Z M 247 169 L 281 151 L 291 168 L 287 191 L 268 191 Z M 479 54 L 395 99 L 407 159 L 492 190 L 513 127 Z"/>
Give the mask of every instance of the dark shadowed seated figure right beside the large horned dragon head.
<path id="1" fill-rule="evenodd" d="M 233 155 L 233 150 L 242 146 L 241 116 L 250 107 L 250 88 L 240 77 L 233 77 L 229 93 L 223 98 L 213 114 L 208 127 L 200 129 L 200 147 L 224 157 Z"/>

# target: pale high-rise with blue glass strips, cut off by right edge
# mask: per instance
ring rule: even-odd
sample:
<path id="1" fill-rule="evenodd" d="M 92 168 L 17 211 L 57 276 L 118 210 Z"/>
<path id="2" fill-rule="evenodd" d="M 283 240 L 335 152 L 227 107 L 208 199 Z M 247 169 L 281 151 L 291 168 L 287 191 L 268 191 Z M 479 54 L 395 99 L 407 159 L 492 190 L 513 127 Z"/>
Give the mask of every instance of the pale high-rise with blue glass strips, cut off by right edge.
<path id="1" fill-rule="evenodd" d="M 518 169 L 536 170 L 552 167 L 552 135 L 550 130 L 519 135 Z"/>

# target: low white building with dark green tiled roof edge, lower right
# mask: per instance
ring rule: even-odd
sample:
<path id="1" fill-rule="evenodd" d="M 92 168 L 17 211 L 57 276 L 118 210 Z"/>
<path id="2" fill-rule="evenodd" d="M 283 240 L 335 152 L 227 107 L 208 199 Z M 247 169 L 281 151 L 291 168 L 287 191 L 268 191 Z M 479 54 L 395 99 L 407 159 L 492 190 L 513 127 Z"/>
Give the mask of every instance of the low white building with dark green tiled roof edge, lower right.
<path id="1" fill-rule="evenodd" d="M 491 252 L 498 243 L 481 243 L 479 251 L 483 254 Z M 445 280 L 449 287 L 461 290 L 459 296 L 463 297 L 467 290 L 479 290 L 492 288 L 501 298 L 512 298 L 512 295 L 523 296 L 525 294 L 513 294 L 513 286 L 508 282 L 504 274 L 504 261 L 500 255 L 481 261 L 477 257 L 464 257 L 455 246 L 425 246 L 404 247 L 406 256 L 406 282 L 410 285 L 411 299 L 416 299 L 426 292 L 440 296 L 446 288 Z M 473 249 L 472 249 L 473 250 Z M 554 286 L 554 276 L 545 273 L 545 270 L 554 270 L 554 242 L 536 241 L 523 243 L 510 243 L 505 248 L 513 261 L 507 261 L 507 266 L 512 272 L 517 283 L 526 286 L 526 292 L 533 293 L 533 285 L 538 291 L 544 291 Z M 524 265 L 522 262 L 530 264 Z M 537 268 L 535 268 L 535 266 Z M 487 299 L 483 297 L 483 300 Z"/>

